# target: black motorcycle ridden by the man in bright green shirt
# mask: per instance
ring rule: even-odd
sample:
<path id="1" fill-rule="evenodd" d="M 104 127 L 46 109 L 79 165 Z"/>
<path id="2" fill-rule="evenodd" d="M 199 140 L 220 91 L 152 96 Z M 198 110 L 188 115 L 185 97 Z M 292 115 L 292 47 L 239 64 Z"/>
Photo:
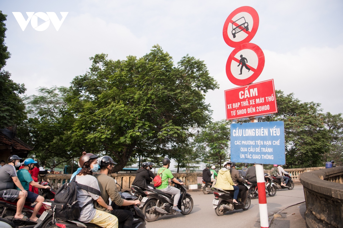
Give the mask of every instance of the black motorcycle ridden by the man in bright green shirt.
<path id="1" fill-rule="evenodd" d="M 181 180 L 177 179 L 182 183 Z M 193 209 L 193 199 L 184 185 L 175 184 L 175 187 L 180 189 L 181 196 L 177 207 L 181 210 L 181 214 L 188 215 Z M 173 210 L 174 196 L 164 193 L 158 189 L 146 189 L 146 197 L 143 197 L 141 205 L 143 206 L 142 211 L 145 215 L 147 222 L 154 222 L 157 220 L 159 215 L 173 215 L 177 212 Z"/>

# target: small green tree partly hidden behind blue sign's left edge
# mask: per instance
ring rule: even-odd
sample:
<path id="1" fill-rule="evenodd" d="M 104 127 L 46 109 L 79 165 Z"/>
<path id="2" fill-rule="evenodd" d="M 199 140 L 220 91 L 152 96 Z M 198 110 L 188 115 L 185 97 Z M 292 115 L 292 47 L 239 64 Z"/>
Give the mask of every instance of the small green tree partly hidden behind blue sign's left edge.
<path id="1" fill-rule="evenodd" d="M 210 123 L 194 137 L 196 151 L 203 154 L 203 161 L 217 164 L 218 169 L 229 158 L 230 124 L 227 120 Z"/>

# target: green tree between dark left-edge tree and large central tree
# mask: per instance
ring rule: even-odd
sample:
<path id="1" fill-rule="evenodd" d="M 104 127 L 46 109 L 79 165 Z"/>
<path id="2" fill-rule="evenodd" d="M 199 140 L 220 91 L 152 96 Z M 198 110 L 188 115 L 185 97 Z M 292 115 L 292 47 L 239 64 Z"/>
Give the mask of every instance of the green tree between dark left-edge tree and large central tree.
<path id="1" fill-rule="evenodd" d="M 82 149 L 71 134 L 74 116 L 68 112 L 66 87 L 39 88 L 39 95 L 25 96 L 28 119 L 19 126 L 18 136 L 34 146 L 42 165 L 58 166 L 81 155 Z"/>

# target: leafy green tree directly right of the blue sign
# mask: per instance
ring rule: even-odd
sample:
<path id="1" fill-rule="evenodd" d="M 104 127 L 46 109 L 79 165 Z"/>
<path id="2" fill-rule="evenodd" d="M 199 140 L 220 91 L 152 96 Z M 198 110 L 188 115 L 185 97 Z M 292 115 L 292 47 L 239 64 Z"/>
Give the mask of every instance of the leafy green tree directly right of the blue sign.
<path id="1" fill-rule="evenodd" d="M 275 91 L 278 112 L 260 121 L 284 121 L 286 166 L 322 166 L 330 135 L 321 120 L 320 104 L 301 102 L 294 94 Z"/>

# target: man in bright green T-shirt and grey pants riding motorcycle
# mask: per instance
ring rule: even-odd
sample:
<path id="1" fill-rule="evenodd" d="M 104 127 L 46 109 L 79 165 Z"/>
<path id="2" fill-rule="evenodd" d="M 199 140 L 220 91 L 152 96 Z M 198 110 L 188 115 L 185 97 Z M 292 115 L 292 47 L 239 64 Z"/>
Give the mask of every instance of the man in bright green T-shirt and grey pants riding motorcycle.
<path id="1" fill-rule="evenodd" d="M 171 187 L 170 185 L 168 185 L 168 180 L 169 178 L 171 180 L 173 180 L 174 183 L 179 184 L 179 185 L 183 185 L 184 183 L 179 182 L 174 176 L 173 174 L 171 174 L 170 170 L 168 169 L 170 166 L 170 160 L 169 158 L 164 158 L 163 161 L 163 167 L 159 168 L 158 170 L 158 174 L 162 173 L 162 184 L 158 187 L 156 187 L 156 189 L 163 191 L 164 193 L 170 194 L 170 195 L 174 195 L 174 206 L 173 209 L 177 212 L 181 212 L 180 209 L 178 209 L 177 204 L 179 202 L 180 199 L 180 195 L 181 195 L 181 191 L 178 188 L 175 187 Z"/>

